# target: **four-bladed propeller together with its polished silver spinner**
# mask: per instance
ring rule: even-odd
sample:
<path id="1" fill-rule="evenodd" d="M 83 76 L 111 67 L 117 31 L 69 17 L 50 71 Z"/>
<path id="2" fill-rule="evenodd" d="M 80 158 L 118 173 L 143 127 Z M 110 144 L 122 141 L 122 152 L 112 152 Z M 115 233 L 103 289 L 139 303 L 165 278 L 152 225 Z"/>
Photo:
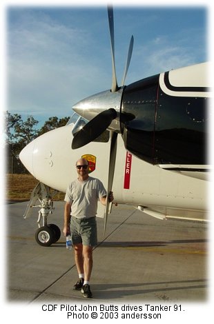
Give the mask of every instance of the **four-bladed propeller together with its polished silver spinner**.
<path id="1" fill-rule="evenodd" d="M 106 92 L 103 92 L 101 94 L 98 94 L 99 99 L 101 99 L 102 102 L 102 111 L 97 114 L 93 119 L 91 119 L 79 132 L 77 132 L 74 135 L 74 138 L 72 140 L 72 149 L 76 148 L 81 148 L 81 146 L 84 146 L 91 141 L 95 140 L 100 134 L 102 134 L 107 128 L 111 130 L 111 136 L 110 136 L 110 156 L 109 156 L 109 167 L 108 167 L 108 194 L 112 190 L 113 186 L 113 178 L 114 178 L 114 172 L 115 172 L 115 160 L 116 160 L 116 154 L 117 154 L 117 134 L 119 132 L 119 128 L 117 127 L 116 130 L 112 130 L 110 128 L 110 124 L 115 120 L 115 119 L 120 119 L 120 102 L 121 102 L 121 95 L 123 88 L 119 88 L 117 85 L 117 76 L 116 76 L 116 69 L 115 69 L 115 32 L 114 32 L 114 17 L 113 17 L 113 7 L 108 6 L 108 23 L 109 23 L 109 31 L 110 31 L 110 48 L 111 48 L 111 57 L 112 57 L 112 66 L 113 66 L 113 72 L 112 72 L 112 86 L 111 90 L 108 91 L 108 100 L 106 101 L 106 107 L 104 105 L 104 101 L 106 99 Z M 124 85 L 126 75 L 128 72 L 128 68 L 130 65 L 130 59 L 132 56 L 133 52 L 133 42 L 134 38 L 133 36 L 130 39 L 130 44 L 128 48 L 128 57 L 126 59 L 126 66 L 124 70 L 124 77 L 121 82 L 121 85 Z M 117 98 L 117 101 L 115 101 L 115 96 L 119 96 Z M 97 95 L 93 96 L 93 98 L 97 98 Z M 109 105 L 109 97 L 113 99 L 112 106 L 108 108 Z M 90 98 L 90 104 L 91 104 L 91 98 Z M 118 102 L 119 100 L 119 102 Z M 84 102 L 84 104 L 83 104 Z M 98 103 L 98 104 L 97 104 Z M 115 104 L 116 103 L 116 104 Z M 96 104 L 99 105 L 99 101 L 96 101 Z M 84 108 L 83 108 L 84 106 Z M 83 117 L 86 117 L 85 114 L 83 114 L 82 109 L 88 108 L 88 102 L 87 99 L 84 101 L 80 101 L 73 107 L 73 110 L 75 110 L 77 113 L 81 114 Z M 90 105 L 91 107 L 91 105 Z M 114 108 L 113 108 L 114 107 Z M 106 110 L 106 108 L 108 108 Z M 115 109 L 116 108 L 116 109 Z M 100 109 L 96 109 L 100 110 Z M 92 112 L 93 110 L 88 109 L 88 114 Z M 94 112 L 92 112 L 94 114 Z M 88 116 L 86 117 L 88 119 Z M 89 118 L 90 119 L 90 118 Z M 107 223 L 107 217 L 108 217 L 108 210 L 109 210 L 109 204 L 110 202 L 107 200 L 106 203 L 106 210 L 104 214 L 104 234 L 106 231 L 106 223 Z"/>

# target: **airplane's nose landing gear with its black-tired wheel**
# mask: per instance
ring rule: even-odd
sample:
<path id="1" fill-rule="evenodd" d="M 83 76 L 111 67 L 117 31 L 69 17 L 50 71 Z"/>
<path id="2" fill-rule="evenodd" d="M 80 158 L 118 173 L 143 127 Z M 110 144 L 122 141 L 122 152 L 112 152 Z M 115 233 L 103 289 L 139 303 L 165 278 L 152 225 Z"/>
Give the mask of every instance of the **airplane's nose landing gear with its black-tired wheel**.
<path id="1" fill-rule="evenodd" d="M 43 183 L 38 183 L 38 185 L 32 191 L 30 201 L 26 207 L 26 211 L 23 218 L 26 219 L 31 216 L 33 207 L 40 207 L 39 216 L 37 220 L 38 229 L 35 232 L 35 239 L 37 243 L 41 246 L 50 246 L 52 243 L 56 243 L 60 236 L 61 231 L 59 227 L 55 224 L 48 224 L 48 215 L 52 214 L 55 208 L 53 207 L 52 197 L 56 192 L 50 193 L 50 187 L 44 185 Z M 39 205 L 35 203 L 39 201 Z M 40 225 L 42 220 L 42 225 Z"/>

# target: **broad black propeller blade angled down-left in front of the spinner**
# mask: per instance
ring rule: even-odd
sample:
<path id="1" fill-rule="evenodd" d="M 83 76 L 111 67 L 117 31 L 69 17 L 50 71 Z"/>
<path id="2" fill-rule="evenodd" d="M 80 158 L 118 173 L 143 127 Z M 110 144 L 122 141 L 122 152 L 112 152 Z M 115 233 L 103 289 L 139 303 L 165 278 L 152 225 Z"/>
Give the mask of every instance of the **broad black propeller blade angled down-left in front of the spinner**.
<path id="1" fill-rule="evenodd" d="M 97 114 L 95 118 L 86 123 L 79 132 L 74 135 L 72 140 L 72 149 L 81 148 L 82 146 L 94 141 L 104 130 L 108 128 L 110 123 L 117 117 L 115 109 L 110 108 Z"/>

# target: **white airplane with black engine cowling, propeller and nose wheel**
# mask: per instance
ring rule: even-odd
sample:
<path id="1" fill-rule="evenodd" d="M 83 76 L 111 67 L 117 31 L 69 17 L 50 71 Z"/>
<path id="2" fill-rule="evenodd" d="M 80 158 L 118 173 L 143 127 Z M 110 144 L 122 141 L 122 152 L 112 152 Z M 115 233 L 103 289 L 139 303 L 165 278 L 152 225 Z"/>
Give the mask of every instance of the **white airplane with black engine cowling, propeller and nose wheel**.
<path id="1" fill-rule="evenodd" d="M 133 205 L 157 219 L 208 221 L 208 63 L 125 86 L 131 37 L 119 87 L 112 7 L 108 7 L 108 23 L 113 64 L 110 90 L 79 101 L 65 126 L 39 136 L 19 154 L 39 181 L 23 217 L 29 217 L 33 207 L 41 208 L 35 239 L 42 246 L 50 246 L 61 235 L 59 227 L 47 221 L 54 210 L 52 188 L 66 192 L 77 176 L 75 163 L 80 157 L 88 160 L 90 173 L 107 191 L 114 192 L 115 205 Z M 104 216 L 104 233 L 111 208 L 108 203 L 97 215 Z"/>

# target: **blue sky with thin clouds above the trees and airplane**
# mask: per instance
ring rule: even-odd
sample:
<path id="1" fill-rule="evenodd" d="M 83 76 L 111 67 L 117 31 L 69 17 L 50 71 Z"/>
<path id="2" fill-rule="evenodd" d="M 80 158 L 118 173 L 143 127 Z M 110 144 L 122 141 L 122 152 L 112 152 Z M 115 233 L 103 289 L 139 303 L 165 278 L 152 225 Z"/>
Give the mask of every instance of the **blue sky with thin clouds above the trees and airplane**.
<path id="1" fill-rule="evenodd" d="M 51 2 L 50 2 L 51 3 Z M 151 1 L 152 3 L 152 1 Z M 118 83 L 130 37 L 126 84 L 208 60 L 208 7 L 114 6 Z M 72 114 L 72 105 L 110 89 L 106 6 L 6 6 L 7 108 L 41 123 Z"/>

